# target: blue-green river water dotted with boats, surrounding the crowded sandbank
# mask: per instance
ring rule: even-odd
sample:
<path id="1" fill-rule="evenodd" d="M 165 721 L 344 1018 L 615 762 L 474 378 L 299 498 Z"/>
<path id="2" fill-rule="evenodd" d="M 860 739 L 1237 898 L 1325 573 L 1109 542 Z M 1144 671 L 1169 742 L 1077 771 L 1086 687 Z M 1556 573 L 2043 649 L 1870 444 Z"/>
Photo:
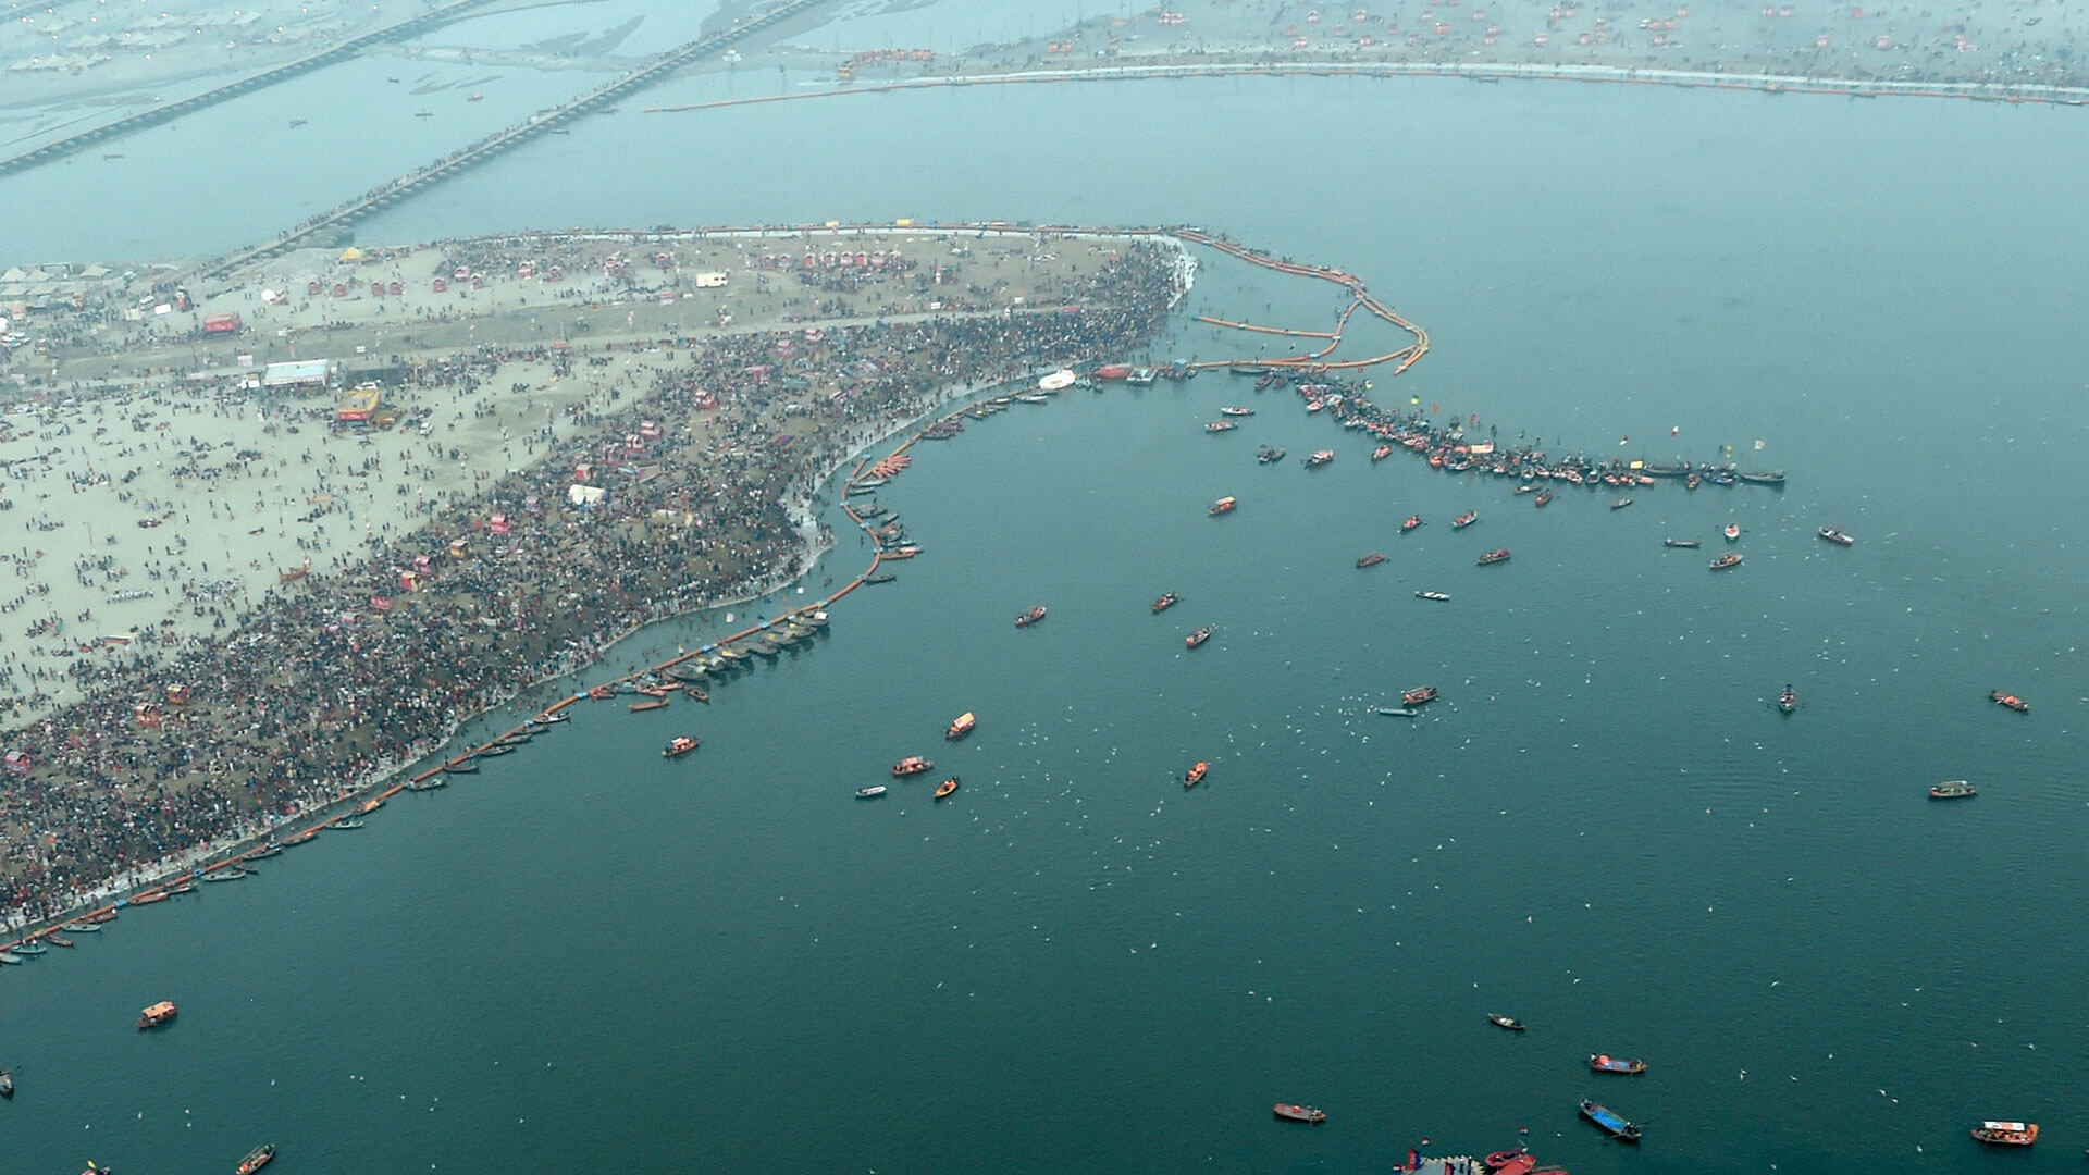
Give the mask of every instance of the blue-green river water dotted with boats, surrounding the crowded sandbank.
<path id="1" fill-rule="evenodd" d="M 232 142 L 234 107 L 178 134 Z M 1199 224 L 1425 324 L 1435 349 L 1379 401 L 1554 452 L 1732 445 L 1790 485 L 1540 512 L 1370 464 L 1222 374 L 1017 406 L 917 445 L 884 502 L 928 552 L 815 650 L 708 709 L 581 707 L 361 832 L 8 968 L 10 1162 L 205 1173 L 272 1139 L 284 1171 L 1370 1171 L 1427 1137 L 1577 1175 L 2072 1169 L 2083 128 L 1623 86 L 1097 84 L 629 109 L 441 186 L 361 238 Z M 215 249 L 418 159 L 382 142 L 286 192 L 167 151 L 155 192 L 63 217 L 46 199 L 77 171 L 31 171 L 0 184 L 27 209 L 6 253 Z M 1187 312 L 1339 307 L 1205 257 Z M 1241 349 L 1184 320 L 1155 355 Z M 1224 404 L 1258 414 L 1205 437 Z M 1339 456 L 1308 473 L 1316 447 Z M 1746 562 L 1709 575 L 1728 521 Z M 867 562 L 842 533 L 813 594 Z M 1498 546 L 1508 565 L 1473 565 Z M 1391 558 L 1358 571 L 1368 550 Z M 1153 617 L 1164 590 L 1182 604 Z M 1218 636 L 1184 650 L 1199 623 Z M 1418 684 L 1443 700 L 1375 713 Z M 959 711 L 980 728 L 944 744 Z M 704 748 L 662 761 L 685 730 Z M 850 799 L 917 753 L 957 797 Z M 1212 776 L 1184 792 L 1195 759 Z M 1943 778 L 1980 797 L 1926 801 Z M 161 997 L 182 1018 L 134 1033 Z M 1590 1052 L 1650 1073 L 1598 1081 Z M 1646 1144 L 1577 1123 L 1583 1093 Z M 1276 1100 L 1331 1121 L 1287 1129 Z M 2045 1144 L 1985 1154 L 1987 1116 Z"/>

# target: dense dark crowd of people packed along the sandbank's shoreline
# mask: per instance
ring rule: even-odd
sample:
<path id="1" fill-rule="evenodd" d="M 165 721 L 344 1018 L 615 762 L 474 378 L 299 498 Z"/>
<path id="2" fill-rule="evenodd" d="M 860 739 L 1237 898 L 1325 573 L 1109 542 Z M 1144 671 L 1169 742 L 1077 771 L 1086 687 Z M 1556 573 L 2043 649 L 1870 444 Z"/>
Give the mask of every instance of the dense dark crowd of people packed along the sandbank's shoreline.
<path id="1" fill-rule="evenodd" d="M 1132 247 L 1080 312 L 708 341 L 426 529 L 272 590 L 236 631 L 90 671 L 84 700 L 13 740 L 29 769 L 0 774 L 0 918 L 265 836 L 639 625 L 783 585 L 813 554 L 802 504 L 844 456 L 959 387 L 1130 353 L 1166 318 L 1172 261 Z M 581 466 L 602 502 L 568 498 Z"/>

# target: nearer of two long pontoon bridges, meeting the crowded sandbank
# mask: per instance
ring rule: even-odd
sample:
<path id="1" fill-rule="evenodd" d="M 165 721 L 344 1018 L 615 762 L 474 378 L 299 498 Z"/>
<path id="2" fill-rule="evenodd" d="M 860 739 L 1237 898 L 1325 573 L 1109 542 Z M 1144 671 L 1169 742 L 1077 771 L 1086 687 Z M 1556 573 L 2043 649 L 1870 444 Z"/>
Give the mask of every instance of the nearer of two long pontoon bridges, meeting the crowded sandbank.
<path id="1" fill-rule="evenodd" d="M 412 197 L 414 192 L 420 192 L 422 188 L 441 184 L 443 180 L 447 180 L 447 178 L 464 171 L 466 167 L 478 165 L 478 163 L 483 163 L 483 161 L 487 161 L 487 159 L 491 159 L 491 157 L 508 151 L 510 146 L 520 146 L 520 144 L 529 142 L 531 138 L 537 138 L 539 134 L 545 134 L 549 130 L 556 130 L 560 125 L 570 123 L 572 119 L 577 119 L 581 115 L 600 111 L 602 107 L 608 107 L 610 102 L 616 102 L 625 94 L 631 94 L 635 90 L 652 86 L 654 82 L 666 77 L 668 73 L 685 67 L 685 65 L 689 65 L 689 63 L 694 63 L 694 61 L 698 61 L 698 59 L 702 59 L 706 54 L 725 50 L 725 48 L 729 48 L 729 46 L 746 40 L 752 33 L 758 33 L 762 29 L 779 25 L 779 23 L 783 23 L 783 21 L 788 21 L 788 19 L 800 15 L 800 13 L 806 13 L 806 10 L 811 10 L 811 8 L 815 8 L 815 6 L 823 4 L 823 2 L 825 0 L 788 0 L 785 4 L 779 4 L 779 6 L 767 10 L 767 13 L 758 15 L 758 17 L 750 17 L 746 21 L 740 21 L 740 23 L 735 23 L 733 27 L 729 27 L 725 31 L 710 33 L 710 36 L 694 40 L 689 44 L 671 48 L 671 50 L 662 52 L 660 56 L 654 56 L 654 59 L 646 61 L 643 65 L 639 65 L 631 73 L 625 73 L 625 75 L 616 77 L 614 82 L 606 82 L 606 84 L 602 84 L 602 86 L 597 86 L 597 88 L 593 88 L 593 90 L 589 90 L 589 92 L 585 92 L 585 94 L 581 94 L 581 96 L 577 96 L 572 100 L 566 100 L 566 102 L 562 102 L 558 107 L 551 107 L 547 111 L 539 111 L 539 113 L 531 115 L 529 119 L 524 119 L 524 121 L 520 121 L 520 123 L 516 123 L 516 125 L 512 125 L 508 130 L 493 132 L 487 138 L 480 138 L 478 142 L 474 142 L 470 146 L 457 148 L 455 153 L 445 155 L 443 159 L 437 159 L 435 163 L 428 163 L 428 165 L 424 165 L 420 169 L 407 171 L 405 176 L 401 176 L 397 180 L 389 180 L 389 182 L 384 182 L 384 184 L 380 184 L 380 186 L 376 186 L 376 188 L 372 188 L 372 190 L 368 190 L 368 192 L 351 199 L 349 203 L 336 205 L 336 207 L 332 207 L 332 209 L 328 209 L 328 211 L 324 211 L 320 215 L 313 215 L 313 217 L 297 224 L 295 228 L 278 234 L 272 240 L 265 240 L 261 245 L 253 245 L 249 249 L 240 249 L 236 253 L 228 253 L 224 257 L 217 257 L 215 261 L 207 261 L 196 274 L 205 276 L 205 278 L 217 278 L 217 276 L 230 274 L 232 270 L 238 270 L 240 266 L 249 266 L 253 261 L 265 261 L 269 257 L 278 257 L 282 253 L 288 253 L 290 249 L 297 249 L 297 247 L 305 245 L 307 240 L 311 240 L 315 236 L 326 236 L 326 234 L 332 234 L 332 232 L 336 232 L 341 228 L 347 228 L 347 226 L 355 224 L 357 220 L 361 220 L 361 217 L 366 217 L 366 215 L 370 215 L 370 213 L 374 213 L 378 209 L 391 207 L 391 205 L 395 205 L 395 203 Z"/>

